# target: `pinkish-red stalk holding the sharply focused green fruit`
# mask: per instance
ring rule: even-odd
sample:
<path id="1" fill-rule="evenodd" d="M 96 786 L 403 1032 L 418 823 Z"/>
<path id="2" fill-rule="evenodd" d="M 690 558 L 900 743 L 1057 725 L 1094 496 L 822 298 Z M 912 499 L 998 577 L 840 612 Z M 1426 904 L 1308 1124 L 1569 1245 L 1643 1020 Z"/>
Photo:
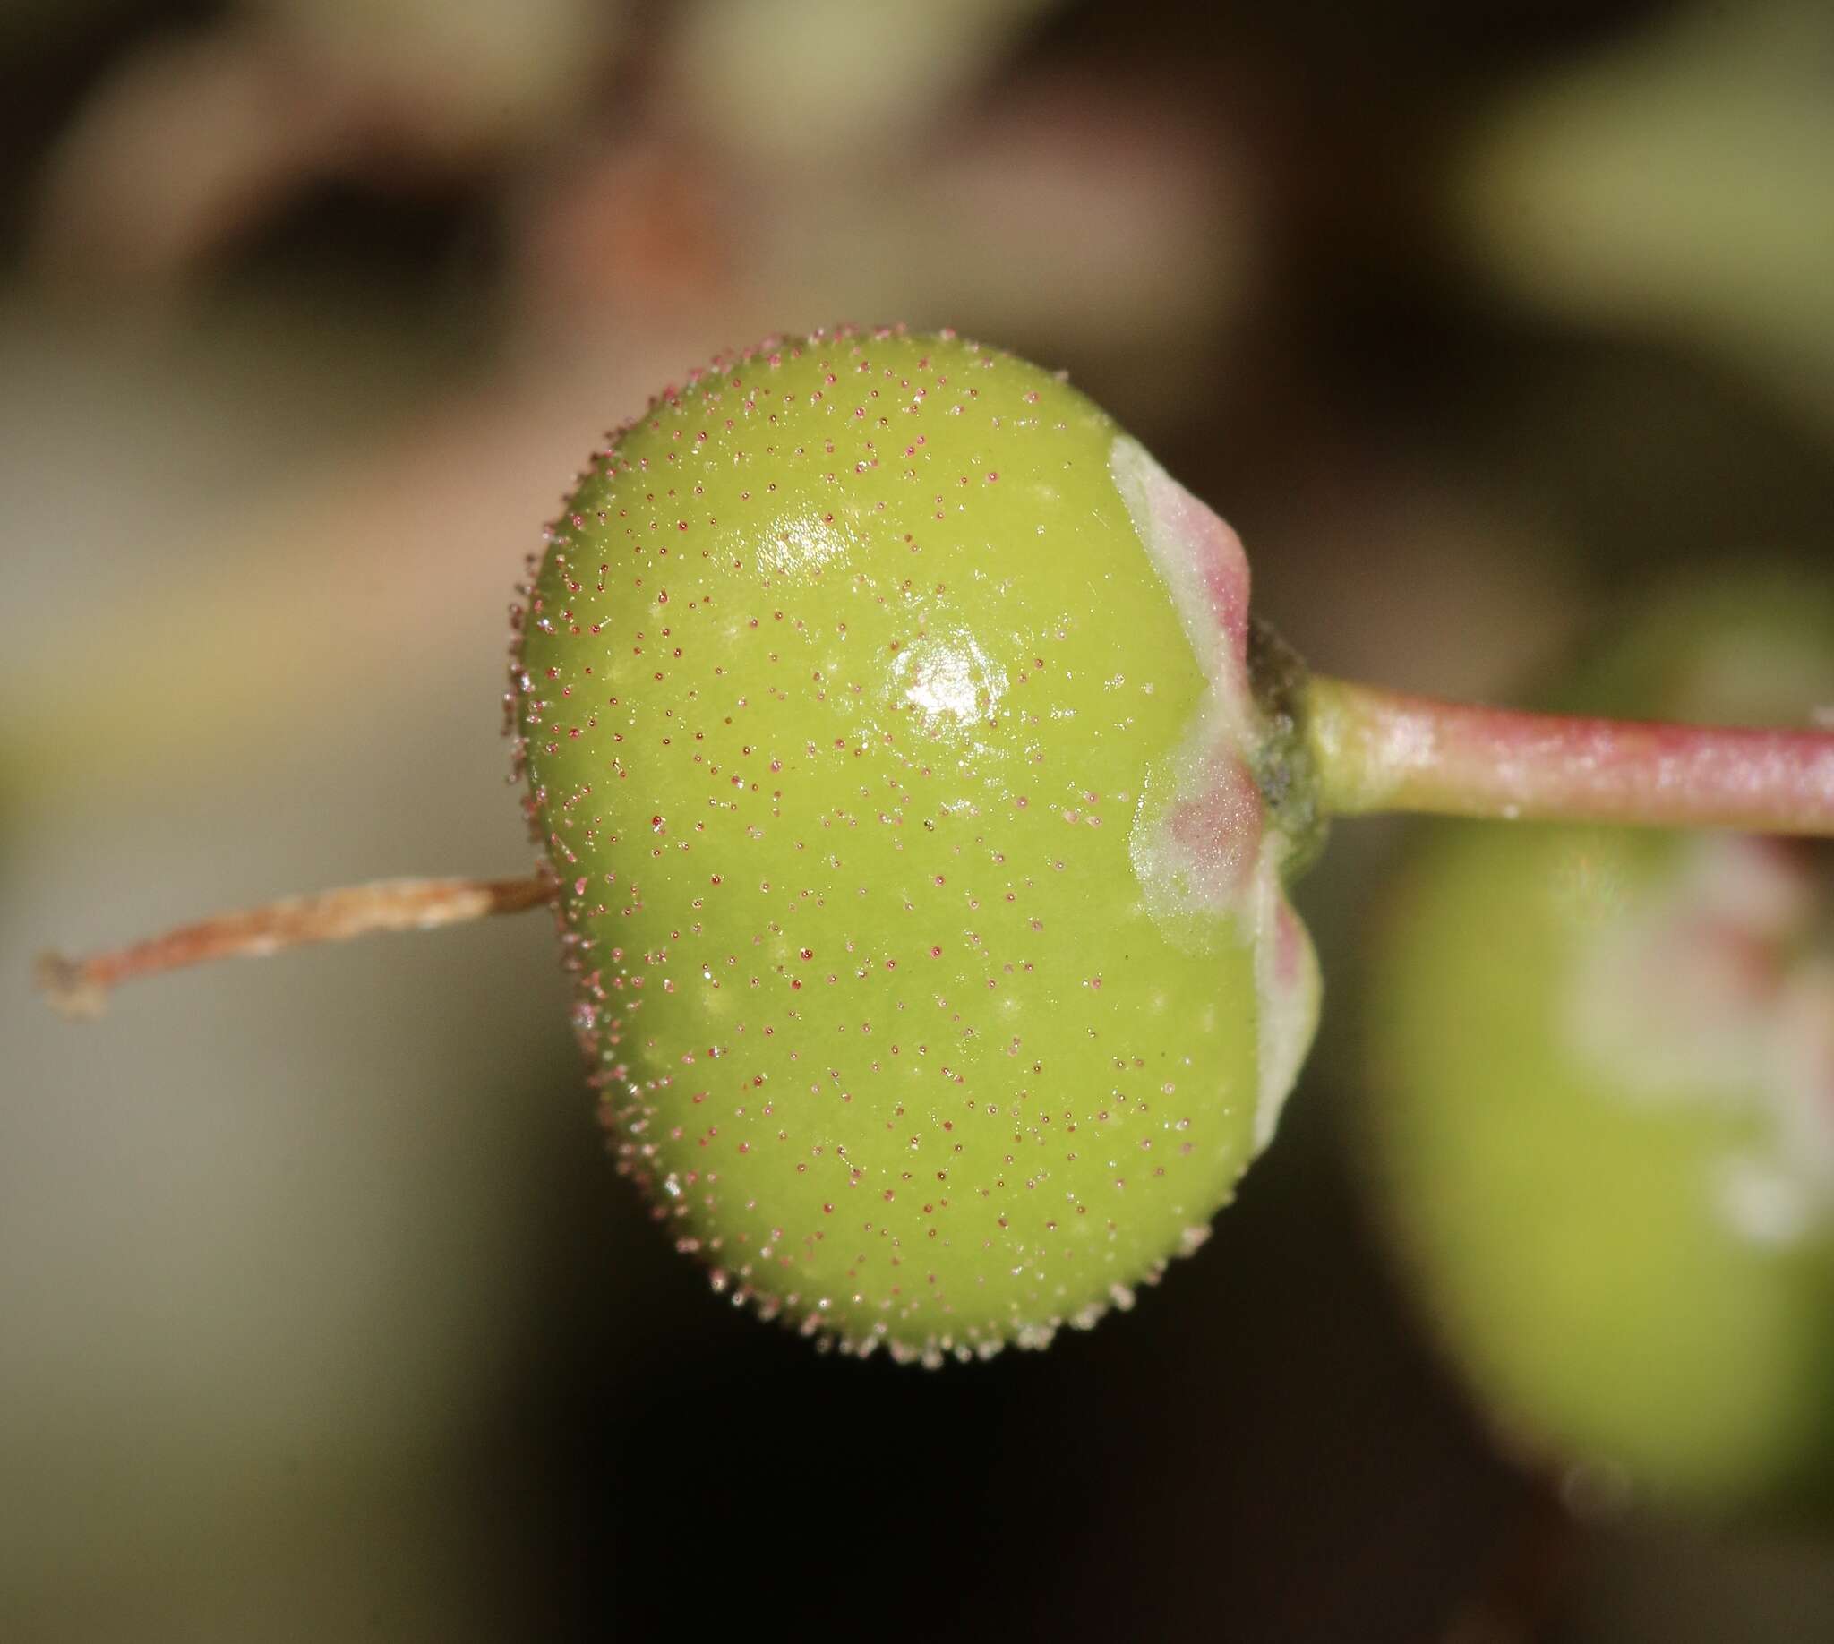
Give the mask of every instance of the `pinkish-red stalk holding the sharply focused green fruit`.
<path id="1" fill-rule="evenodd" d="M 1326 811 L 1834 837 L 1834 732 L 1524 714 L 1313 675 Z"/>

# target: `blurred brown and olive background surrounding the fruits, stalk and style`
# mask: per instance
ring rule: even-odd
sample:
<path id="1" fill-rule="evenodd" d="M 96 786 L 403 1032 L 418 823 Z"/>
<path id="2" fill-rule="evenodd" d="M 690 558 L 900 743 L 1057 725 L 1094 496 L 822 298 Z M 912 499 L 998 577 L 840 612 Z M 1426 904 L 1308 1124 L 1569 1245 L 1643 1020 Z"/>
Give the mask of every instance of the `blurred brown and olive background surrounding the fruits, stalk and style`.
<path id="1" fill-rule="evenodd" d="M 1814 0 L 7 0 L 0 1637 L 1834 1637 L 1827 1539 L 1495 1453 L 1342 996 L 1159 1294 L 928 1376 L 666 1250 L 539 919 L 26 985 L 519 872 L 521 560 L 768 330 L 1067 367 L 1330 672 L 1522 695 L 1684 563 L 1825 567 L 1830 73 Z M 1328 987 L 1398 833 L 1302 886 Z"/>

